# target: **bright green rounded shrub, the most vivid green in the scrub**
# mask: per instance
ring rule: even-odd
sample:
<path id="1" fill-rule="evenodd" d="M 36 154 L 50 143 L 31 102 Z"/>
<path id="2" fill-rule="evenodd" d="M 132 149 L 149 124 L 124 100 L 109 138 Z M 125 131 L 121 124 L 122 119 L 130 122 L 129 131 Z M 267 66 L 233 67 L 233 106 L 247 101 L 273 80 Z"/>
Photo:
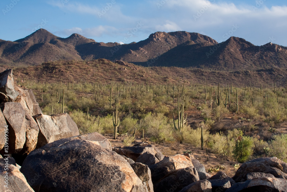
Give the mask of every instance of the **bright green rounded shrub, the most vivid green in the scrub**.
<path id="1" fill-rule="evenodd" d="M 240 162 L 244 163 L 253 154 L 253 139 L 249 136 L 243 136 L 241 140 L 235 142 L 234 149 L 232 151 L 234 158 Z"/>

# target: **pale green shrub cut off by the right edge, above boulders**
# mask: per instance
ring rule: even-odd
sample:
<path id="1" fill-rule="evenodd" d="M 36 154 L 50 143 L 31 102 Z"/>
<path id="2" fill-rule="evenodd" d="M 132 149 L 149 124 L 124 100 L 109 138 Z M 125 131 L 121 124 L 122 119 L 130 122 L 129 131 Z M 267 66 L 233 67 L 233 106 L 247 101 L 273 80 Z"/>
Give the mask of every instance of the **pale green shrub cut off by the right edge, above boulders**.
<path id="1" fill-rule="evenodd" d="M 270 142 L 270 155 L 287 163 L 287 134 L 276 135 Z"/>

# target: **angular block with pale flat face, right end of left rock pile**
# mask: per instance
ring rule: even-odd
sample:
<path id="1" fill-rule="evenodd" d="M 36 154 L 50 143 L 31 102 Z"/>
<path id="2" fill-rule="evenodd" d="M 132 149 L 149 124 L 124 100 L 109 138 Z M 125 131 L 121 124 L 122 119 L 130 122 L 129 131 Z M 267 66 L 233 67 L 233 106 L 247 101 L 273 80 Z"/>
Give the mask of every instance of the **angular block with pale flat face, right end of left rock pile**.
<path id="1" fill-rule="evenodd" d="M 79 135 L 76 123 L 67 113 L 57 115 L 38 114 L 33 118 L 40 128 L 36 148 L 55 140 Z"/>

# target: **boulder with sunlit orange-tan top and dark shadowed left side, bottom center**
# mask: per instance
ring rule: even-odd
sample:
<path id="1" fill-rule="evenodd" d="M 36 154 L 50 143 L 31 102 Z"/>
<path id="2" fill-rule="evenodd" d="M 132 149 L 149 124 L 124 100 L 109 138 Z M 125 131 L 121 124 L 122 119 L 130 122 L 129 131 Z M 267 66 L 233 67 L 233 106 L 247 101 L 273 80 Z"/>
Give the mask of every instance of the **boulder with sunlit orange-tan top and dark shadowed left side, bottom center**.
<path id="1" fill-rule="evenodd" d="M 157 183 L 160 179 L 164 178 L 168 174 L 175 170 L 193 167 L 191 159 L 185 155 L 174 155 L 172 157 L 166 157 L 160 162 L 150 166 L 152 172 L 152 182 Z"/>

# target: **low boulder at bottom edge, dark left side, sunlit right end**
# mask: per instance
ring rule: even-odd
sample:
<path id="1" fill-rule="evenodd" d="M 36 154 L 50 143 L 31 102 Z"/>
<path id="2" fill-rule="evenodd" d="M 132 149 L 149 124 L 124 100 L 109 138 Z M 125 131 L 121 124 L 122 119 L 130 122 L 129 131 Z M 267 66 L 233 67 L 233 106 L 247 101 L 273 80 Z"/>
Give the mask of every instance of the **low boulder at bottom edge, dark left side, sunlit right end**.
<path id="1" fill-rule="evenodd" d="M 211 189 L 211 183 L 208 180 L 203 179 L 187 185 L 179 192 L 211 192 Z"/>

